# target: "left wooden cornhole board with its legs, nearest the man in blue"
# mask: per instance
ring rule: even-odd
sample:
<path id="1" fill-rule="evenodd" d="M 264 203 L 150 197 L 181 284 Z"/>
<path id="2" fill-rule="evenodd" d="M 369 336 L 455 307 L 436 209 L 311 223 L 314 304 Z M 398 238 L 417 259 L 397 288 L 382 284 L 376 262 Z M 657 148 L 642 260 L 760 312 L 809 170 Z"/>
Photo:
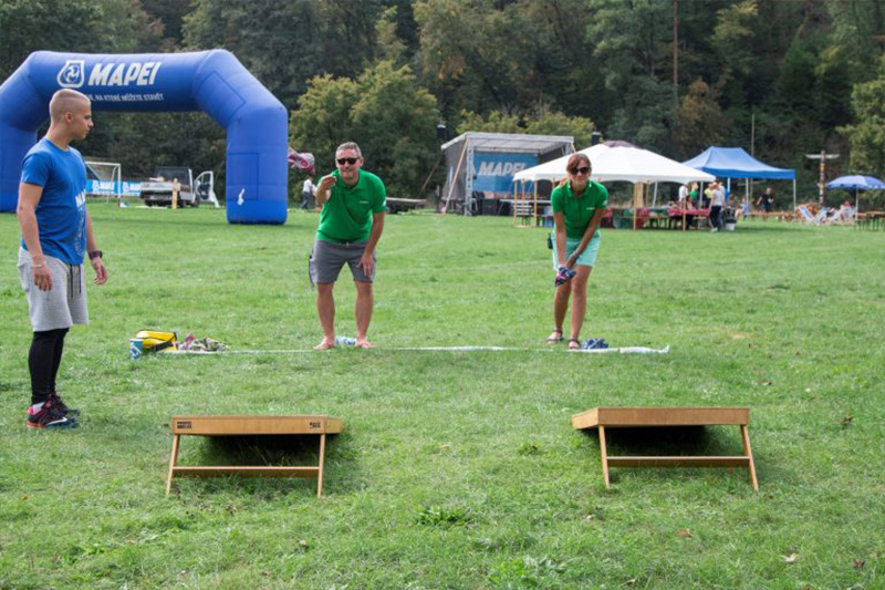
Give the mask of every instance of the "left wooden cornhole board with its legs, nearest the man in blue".
<path id="1" fill-rule="evenodd" d="M 344 428 L 341 418 L 331 416 L 173 416 L 173 453 L 169 457 L 169 477 L 166 496 L 173 478 L 179 476 L 210 477 L 241 475 L 252 477 L 315 477 L 316 497 L 323 496 L 323 464 L 325 436 Z M 178 443 L 181 436 L 249 436 L 308 434 L 320 436 L 320 464 L 304 467 L 273 466 L 181 466 L 177 465 Z"/>

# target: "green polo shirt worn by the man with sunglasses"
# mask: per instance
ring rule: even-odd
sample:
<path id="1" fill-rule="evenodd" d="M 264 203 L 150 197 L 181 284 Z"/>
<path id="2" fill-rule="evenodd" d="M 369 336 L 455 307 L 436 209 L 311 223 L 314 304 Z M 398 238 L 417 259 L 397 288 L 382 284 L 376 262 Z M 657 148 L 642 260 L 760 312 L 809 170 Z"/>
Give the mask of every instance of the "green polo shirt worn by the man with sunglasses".
<path id="1" fill-rule="evenodd" d="M 339 170 L 332 175 L 339 182 L 329 189 L 316 239 L 332 244 L 366 241 L 372 231 L 372 216 L 387 210 L 384 183 L 366 170 L 360 170 L 360 178 L 353 186 L 344 184 Z"/>

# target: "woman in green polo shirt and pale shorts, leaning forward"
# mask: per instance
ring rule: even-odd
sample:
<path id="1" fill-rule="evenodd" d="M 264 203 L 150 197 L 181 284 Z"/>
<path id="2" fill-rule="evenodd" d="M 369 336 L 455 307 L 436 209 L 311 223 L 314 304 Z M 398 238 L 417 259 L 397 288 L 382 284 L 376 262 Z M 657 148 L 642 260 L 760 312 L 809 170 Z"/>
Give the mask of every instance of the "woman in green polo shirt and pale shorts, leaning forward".
<path id="1" fill-rule="evenodd" d="M 569 177 L 553 189 L 556 239 L 553 240 L 553 268 L 556 293 L 553 296 L 553 333 L 548 342 L 562 342 L 562 322 L 572 298 L 572 325 L 569 348 L 581 348 L 581 327 L 587 311 L 587 279 L 600 251 L 600 222 L 608 206 L 608 192 L 590 179 L 592 170 L 585 154 L 572 154 L 565 167 Z"/>

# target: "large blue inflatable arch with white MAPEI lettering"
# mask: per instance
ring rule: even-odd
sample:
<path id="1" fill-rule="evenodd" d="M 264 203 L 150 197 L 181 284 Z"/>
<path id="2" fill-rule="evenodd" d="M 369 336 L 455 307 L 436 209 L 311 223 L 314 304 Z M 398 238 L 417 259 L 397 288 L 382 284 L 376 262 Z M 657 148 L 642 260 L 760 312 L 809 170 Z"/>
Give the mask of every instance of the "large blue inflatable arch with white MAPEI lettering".
<path id="1" fill-rule="evenodd" d="M 22 158 L 37 143 L 37 130 L 49 118 L 49 101 L 61 87 L 86 94 L 93 111 L 207 113 L 227 130 L 228 221 L 285 222 L 285 107 L 222 50 L 29 55 L 0 85 L 0 211 L 15 210 Z"/>

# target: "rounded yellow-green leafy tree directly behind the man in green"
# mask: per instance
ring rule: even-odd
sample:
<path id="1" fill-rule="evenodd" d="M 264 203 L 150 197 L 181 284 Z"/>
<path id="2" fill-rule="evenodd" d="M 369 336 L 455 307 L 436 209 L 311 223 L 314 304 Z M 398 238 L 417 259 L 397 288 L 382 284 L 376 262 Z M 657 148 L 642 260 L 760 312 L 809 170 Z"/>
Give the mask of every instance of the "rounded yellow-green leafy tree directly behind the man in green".
<path id="1" fill-rule="evenodd" d="M 436 100 L 408 66 L 381 61 L 356 80 L 314 77 L 300 103 L 292 143 L 314 154 L 319 170 L 334 166 L 335 147 L 354 141 L 391 196 L 414 196 L 437 159 Z"/>

